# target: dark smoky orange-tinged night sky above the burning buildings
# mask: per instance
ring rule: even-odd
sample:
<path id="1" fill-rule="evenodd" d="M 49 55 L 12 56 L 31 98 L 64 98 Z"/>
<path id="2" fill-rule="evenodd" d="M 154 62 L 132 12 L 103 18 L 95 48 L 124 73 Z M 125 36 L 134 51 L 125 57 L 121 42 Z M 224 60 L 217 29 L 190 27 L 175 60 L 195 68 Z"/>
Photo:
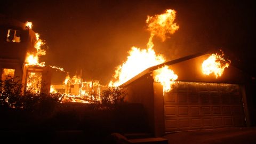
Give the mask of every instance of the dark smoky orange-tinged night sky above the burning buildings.
<path id="1" fill-rule="evenodd" d="M 231 64 L 255 76 L 255 6 L 238 1 L 5 1 L 0 13 L 32 21 L 49 49 L 42 59 L 74 75 L 107 84 L 132 46 L 145 48 L 147 15 L 177 11 L 171 38 L 154 38 L 154 50 L 173 60 L 222 49 Z"/>

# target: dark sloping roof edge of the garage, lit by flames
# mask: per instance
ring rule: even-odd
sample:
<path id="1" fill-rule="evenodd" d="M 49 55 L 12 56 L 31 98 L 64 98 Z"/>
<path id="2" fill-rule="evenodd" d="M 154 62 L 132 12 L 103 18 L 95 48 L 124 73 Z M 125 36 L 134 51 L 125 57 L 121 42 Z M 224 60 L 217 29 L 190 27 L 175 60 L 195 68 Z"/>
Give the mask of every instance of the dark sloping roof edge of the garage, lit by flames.
<path id="1" fill-rule="evenodd" d="M 165 65 L 166 66 L 174 65 L 175 63 L 179 63 L 179 62 L 182 62 L 182 61 L 190 60 L 190 59 L 193 59 L 193 58 L 196 58 L 196 57 L 200 57 L 200 56 L 205 55 L 205 54 L 209 54 L 209 56 L 210 56 L 211 53 L 216 53 L 218 51 L 219 51 L 219 49 L 209 49 L 209 50 L 206 50 L 204 52 L 199 52 L 199 53 L 196 53 L 196 54 L 187 55 L 186 57 L 182 57 L 182 58 L 179 58 L 179 59 L 167 61 L 167 62 L 161 63 L 159 65 L 147 68 L 146 70 L 142 71 L 140 74 L 138 74 L 138 75 L 134 76 L 133 78 L 131 78 L 129 81 L 127 81 L 127 82 L 123 83 L 122 85 L 120 85 L 120 87 L 124 87 L 126 85 L 129 85 L 130 83 L 132 83 L 136 79 L 142 77 L 143 75 L 146 75 L 146 74 L 150 73 L 151 71 L 154 71 L 154 70 L 156 70 L 158 68 L 161 68 L 161 67 L 163 67 Z M 234 68 L 236 68 L 236 67 L 234 67 Z M 238 68 L 236 68 L 236 69 L 238 69 Z M 238 69 L 238 70 L 242 71 L 241 69 Z"/>

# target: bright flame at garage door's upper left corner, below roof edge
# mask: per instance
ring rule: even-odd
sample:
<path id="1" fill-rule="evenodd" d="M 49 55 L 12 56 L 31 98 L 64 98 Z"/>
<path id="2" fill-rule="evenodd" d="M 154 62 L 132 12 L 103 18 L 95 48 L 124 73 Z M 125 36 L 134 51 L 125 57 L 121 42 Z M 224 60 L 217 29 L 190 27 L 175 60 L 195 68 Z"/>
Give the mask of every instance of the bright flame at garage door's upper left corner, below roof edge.
<path id="1" fill-rule="evenodd" d="M 168 66 L 155 70 L 153 76 L 155 82 L 160 82 L 163 85 L 164 92 L 169 92 L 171 85 L 178 78 L 178 75 L 174 74 L 173 70 L 169 69 Z"/>

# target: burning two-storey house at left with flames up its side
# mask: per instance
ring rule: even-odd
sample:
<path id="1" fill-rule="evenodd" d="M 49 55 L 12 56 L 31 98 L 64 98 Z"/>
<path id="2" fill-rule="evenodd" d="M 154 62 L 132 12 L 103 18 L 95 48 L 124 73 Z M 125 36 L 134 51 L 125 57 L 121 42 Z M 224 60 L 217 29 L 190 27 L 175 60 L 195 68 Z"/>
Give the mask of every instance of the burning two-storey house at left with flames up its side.
<path id="1" fill-rule="evenodd" d="M 31 22 L 23 23 L 0 15 L 0 72 L 1 80 L 14 77 L 35 92 L 49 92 L 51 68 L 38 63 L 42 40 L 31 29 Z M 41 54 L 38 54 L 41 53 Z"/>

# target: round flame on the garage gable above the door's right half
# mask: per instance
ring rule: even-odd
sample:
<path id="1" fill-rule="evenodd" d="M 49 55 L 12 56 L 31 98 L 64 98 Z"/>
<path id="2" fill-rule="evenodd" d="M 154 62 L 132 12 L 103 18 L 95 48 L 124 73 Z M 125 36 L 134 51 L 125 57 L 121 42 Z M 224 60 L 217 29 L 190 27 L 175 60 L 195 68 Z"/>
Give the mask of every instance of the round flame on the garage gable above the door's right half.
<path id="1" fill-rule="evenodd" d="M 205 75 L 214 74 L 216 78 L 220 77 L 225 68 L 229 67 L 231 63 L 230 60 L 225 60 L 223 58 L 224 54 L 212 54 L 208 59 L 204 60 L 202 63 L 202 72 Z"/>

